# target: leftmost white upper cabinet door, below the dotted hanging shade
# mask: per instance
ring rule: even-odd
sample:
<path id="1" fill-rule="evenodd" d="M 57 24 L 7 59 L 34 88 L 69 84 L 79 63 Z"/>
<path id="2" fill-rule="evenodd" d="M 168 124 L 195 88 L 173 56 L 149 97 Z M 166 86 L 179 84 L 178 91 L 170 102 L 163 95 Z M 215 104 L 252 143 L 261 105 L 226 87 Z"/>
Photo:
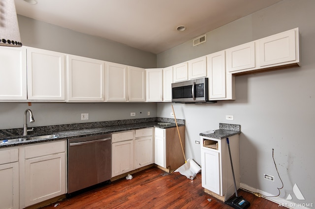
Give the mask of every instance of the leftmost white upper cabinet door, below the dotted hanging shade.
<path id="1" fill-rule="evenodd" d="M 26 48 L 0 47 L 0 100 L 26 100 Z"/>

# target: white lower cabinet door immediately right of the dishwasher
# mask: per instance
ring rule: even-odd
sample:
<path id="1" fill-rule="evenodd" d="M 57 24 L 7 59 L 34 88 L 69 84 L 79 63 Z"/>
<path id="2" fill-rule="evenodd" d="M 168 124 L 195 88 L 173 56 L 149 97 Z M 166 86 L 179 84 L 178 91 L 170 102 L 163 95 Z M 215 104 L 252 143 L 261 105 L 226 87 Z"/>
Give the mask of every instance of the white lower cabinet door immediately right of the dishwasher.
<path id="1" fill-rule="evenodd" d="M 112 177 L 133 170 L 133 140 L 112 143 Z"/>

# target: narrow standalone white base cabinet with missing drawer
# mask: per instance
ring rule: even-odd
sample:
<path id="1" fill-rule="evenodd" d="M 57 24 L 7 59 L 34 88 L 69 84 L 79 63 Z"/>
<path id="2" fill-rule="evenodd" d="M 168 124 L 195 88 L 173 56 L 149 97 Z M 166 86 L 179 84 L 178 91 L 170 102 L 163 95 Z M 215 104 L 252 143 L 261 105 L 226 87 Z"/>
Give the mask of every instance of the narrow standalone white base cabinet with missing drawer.
<path id="1" fill-rule="evenodd" d="M 240 187 L 239 135 L 229 138 L 236 187 Z M 200 137 L 201 185 L 205 192 L 225 201 L 234 192 L 232 169 L 226 138 Z"/>

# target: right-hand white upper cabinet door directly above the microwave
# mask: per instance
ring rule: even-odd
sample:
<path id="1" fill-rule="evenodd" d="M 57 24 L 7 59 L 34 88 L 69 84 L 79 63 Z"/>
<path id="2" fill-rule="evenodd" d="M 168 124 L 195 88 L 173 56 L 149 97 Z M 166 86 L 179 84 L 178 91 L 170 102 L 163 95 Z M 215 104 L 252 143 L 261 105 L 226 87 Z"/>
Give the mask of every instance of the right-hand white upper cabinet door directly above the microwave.
<path id="1" fill-rule="evenodd" d="M 202 78 L 207 76 L 207 58 L 198 57 L 188 61 L 188 79 Z"/>

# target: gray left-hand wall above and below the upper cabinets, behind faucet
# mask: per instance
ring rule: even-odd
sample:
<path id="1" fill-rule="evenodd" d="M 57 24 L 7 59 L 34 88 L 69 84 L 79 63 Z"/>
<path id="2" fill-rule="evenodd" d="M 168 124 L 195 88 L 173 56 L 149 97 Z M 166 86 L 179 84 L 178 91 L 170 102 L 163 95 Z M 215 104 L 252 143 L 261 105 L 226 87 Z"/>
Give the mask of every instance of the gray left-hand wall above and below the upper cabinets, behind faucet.
<path id="1" fill-rule="evenodd" d="M 18 15 L 25 46 L 75 54 L 142 68 L 154 68 L 156 54 L 143 52 L 99 37 L 75 32 Z M 135 119 L 157 116 L 155 103 L 0 103 L 0 129 L 23 127 L 25 109 L 32 109 L 35 122 L 30 127 Z M 147 116 L 150 111 L 150 116 Z M 131 117 L 130 112 L 136 112 Z M 142 112 L 142 113 L 140 113 Z M 89 120 L 81 120 L 89 113 Z"/>

